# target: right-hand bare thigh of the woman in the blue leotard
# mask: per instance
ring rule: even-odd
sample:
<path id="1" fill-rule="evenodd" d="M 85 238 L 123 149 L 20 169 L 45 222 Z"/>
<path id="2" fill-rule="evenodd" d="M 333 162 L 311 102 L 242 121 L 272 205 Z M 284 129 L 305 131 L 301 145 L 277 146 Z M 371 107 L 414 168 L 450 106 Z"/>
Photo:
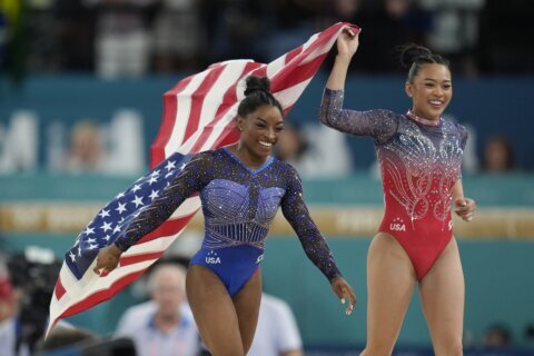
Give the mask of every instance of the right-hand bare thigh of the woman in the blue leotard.
<path id="1" fill-rule="evenodd" d="M 250 277 L 241 290 L 234 296 L 245 354 L 248 353 L 253 345 L 254 334 L 258 324 L 260 301 L 261 274 L 258 270 Z"/>

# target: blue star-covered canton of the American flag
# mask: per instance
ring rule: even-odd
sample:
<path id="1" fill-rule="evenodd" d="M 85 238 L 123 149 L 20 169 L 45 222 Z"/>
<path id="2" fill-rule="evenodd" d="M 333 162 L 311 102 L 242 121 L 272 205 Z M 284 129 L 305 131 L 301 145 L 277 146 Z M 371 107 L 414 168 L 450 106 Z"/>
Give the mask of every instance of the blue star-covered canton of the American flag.
<path id="1" fill-rule="evenodd" d="M 66 264 L 76 278 L 81 279 L 98 250 L 112 244 L 130 221 L 161 195 L 190 158 L 190 155 L 174 154 L 98 212 L 65 256 Z"/>

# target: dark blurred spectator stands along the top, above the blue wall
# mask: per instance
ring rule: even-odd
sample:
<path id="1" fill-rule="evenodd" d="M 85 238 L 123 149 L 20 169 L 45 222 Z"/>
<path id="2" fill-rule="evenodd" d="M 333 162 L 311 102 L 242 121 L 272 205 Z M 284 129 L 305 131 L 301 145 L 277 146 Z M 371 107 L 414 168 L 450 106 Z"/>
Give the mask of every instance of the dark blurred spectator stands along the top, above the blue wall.
<path id="1" fill-rule="evenodd" d="M 353 69 L 398 71 L 395 47 L 417 42 L 456 73 L 533 72 L 534 2 L 510 0 L 3 0 L 0 60 L 28 72 L 106 78 L 269 61 L 337 21 L 362 26 Z"/>

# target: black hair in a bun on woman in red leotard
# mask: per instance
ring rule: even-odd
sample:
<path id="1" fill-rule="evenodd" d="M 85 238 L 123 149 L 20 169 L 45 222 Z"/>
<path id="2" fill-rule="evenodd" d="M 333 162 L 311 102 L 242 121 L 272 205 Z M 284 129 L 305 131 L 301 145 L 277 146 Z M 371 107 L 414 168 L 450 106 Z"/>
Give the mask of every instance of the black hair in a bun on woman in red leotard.
<path id="1" fill-rule="evenodd" d="M 408 43 L 398 48 L 400 66 L 408 69 L 408 81 L 414 82 L 414 78 L 419 73 L 424 65 L 443 65 L 448 68 L 448 60 L 437 53 L 433 53 L 428 48 Z"/>

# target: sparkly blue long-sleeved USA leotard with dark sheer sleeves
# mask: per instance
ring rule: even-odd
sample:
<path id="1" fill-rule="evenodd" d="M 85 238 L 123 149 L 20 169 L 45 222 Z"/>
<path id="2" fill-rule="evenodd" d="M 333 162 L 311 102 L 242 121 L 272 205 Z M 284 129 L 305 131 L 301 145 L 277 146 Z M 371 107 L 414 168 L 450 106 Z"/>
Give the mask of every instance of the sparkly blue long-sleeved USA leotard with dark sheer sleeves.
<path id="1" fill-rule="evenodd" d="M 231 296 L 257 271 L 269 225 L 279 206 L 308 258 L 328 280 L 340 276 L 303 201 L 297 171 L 274 158 L 253 170 L 226 148 L 195 155 L 150 209 L 134 219 L 115 244 L 121 250 L 128 249 L 196 191 L 202 204 L 205 238 L 191 264 L 212 270 Z"/>

